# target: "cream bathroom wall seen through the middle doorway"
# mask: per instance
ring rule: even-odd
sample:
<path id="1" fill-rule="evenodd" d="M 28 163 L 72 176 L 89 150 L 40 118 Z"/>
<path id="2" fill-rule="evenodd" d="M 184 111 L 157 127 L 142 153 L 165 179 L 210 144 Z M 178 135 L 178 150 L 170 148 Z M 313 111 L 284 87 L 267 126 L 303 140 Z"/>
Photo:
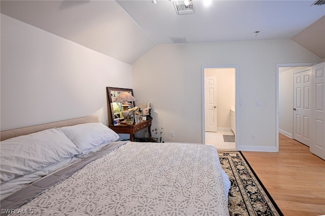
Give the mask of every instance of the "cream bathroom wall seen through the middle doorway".
<path id="1" fill-rule="evenodd" d="M 217 79 L 217 127 L 231 131 L 230 107 L 235 106 L 235 68 L 206 68 L 206 77 Z"/>

